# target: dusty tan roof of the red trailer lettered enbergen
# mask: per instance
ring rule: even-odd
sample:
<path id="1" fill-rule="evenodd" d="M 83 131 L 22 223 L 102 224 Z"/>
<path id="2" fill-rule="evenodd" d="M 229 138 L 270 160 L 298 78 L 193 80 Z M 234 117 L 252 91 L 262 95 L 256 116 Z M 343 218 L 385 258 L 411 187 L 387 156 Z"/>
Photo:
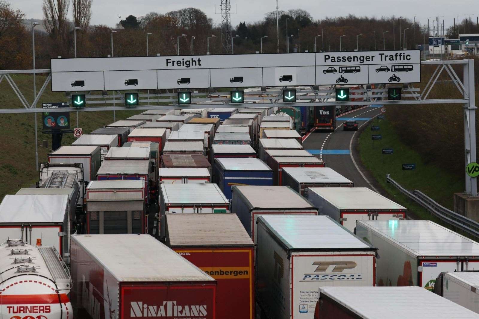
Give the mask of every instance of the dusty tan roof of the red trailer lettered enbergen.
<path id="1" fill-rule="evenodd" d="M 169 246 L 249 246 L 253 241 L 236 214 L 167 214 Z"/>

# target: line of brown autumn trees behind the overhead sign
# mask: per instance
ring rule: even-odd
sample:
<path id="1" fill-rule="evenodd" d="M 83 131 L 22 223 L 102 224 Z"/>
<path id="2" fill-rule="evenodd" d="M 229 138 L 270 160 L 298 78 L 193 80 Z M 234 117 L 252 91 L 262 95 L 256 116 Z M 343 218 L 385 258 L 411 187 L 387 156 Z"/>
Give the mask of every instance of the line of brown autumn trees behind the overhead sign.
<path id="1" fill-rule="evenodd" d="M 71 0 L 71 15 L 69 1 L 43 0 L 46 33 L 35 31 L 36 68 L 49 68 L 52 57 L 74 57 L 75 33 L 77 57 L 106 57 L 112 53 L 114 57 L 147 53 L 164 56 L 176 55 L 177 51 L 180 55 L 206 54 L 208 42 L 210 54 L 230 53 L 222 45 L 221 25 L 196 8 L 130 15 L 112 28 L 90 24 L 92 0 Z M 1 69 L 32 68 L 32 29 L 22 23 L 24 17 L 7 0 L 0 0 Z M 279 52 L 286 52 L 286 41 L 289 52 L 313 52 L 315 40 L 316 51 L 412 49 L 428 41 L 427 26 L 402 17 L 348 15 L 314 20 L 308 11 L 294 9 L 279 11 L 278 19 Z M 235 53 L 260 51 L 261 38 L 263 53 L 277 52 L 276 11 L 266 13 L 261 21 L 240 22 L 231 29 Z M 462 30 L 479 33 L 478 25 L 465 19 L 448 28 L 446 36 L 457 37 Z"/>

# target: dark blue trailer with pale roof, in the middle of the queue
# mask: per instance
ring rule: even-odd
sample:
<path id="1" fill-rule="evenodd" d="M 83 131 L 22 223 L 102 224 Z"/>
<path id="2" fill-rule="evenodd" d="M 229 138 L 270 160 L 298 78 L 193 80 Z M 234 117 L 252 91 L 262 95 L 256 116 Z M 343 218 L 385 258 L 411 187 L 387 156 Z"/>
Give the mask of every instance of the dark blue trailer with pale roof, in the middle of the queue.
<path id="1" fill-rule="evenodd" d="M 273 185 L 273 170 L 261 159 L 217 158 L 214 164 L 213 181 L 231 200 L 233 185 Z"/>

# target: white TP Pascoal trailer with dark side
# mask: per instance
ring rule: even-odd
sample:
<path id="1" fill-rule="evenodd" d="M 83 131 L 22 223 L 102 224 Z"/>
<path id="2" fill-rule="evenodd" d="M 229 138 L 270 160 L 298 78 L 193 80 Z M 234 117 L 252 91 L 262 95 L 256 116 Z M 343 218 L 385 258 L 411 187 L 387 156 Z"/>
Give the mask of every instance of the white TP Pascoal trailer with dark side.
<path id="1" fill-rule="evenodd" d="M 268 318 L 311 319 L 319 287 L 374 286 L 376 248 L 328 216 L 259 216 L 256 296 Z"/>

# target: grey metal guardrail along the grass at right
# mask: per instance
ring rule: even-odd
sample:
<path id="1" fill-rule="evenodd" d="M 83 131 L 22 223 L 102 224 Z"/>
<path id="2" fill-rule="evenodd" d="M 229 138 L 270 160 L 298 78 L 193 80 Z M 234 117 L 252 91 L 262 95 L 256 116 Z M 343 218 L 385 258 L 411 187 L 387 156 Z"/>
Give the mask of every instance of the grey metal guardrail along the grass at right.
<path id="1" fill-rule="evenodd" d="M 479 223 L 466 216 L 462 216 L 436 203 L 432 198 L 418 190 L 408 191 L 398 182 L 386 174 L 386 182 L 393 184 L 402 194 L 411 198 L 414 202 L 427 209 L 431 214 L 443 222 L 462 230 L 463 232 L 479 239 Z"/>

